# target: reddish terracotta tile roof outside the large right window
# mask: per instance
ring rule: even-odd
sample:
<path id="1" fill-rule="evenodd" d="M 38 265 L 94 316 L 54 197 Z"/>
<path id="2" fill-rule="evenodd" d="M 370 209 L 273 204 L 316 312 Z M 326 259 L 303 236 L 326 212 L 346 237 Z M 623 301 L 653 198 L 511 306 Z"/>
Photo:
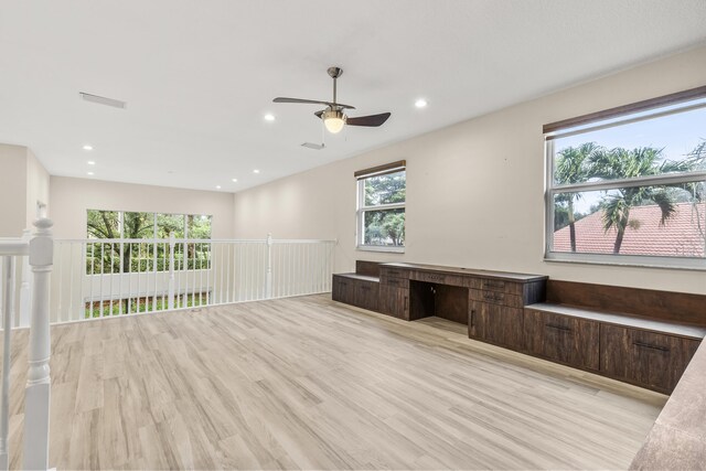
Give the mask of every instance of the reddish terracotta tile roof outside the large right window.
<path id="1" fill-rule="evenodd" d="M 676 212 L 660 224 L 657 205 L 637 206 L 630 211 L 630 222 L 620 247 L 623 255 L 661 255 L 704 257 L 706 203 L 676 204 Z M 598 211 L 576 222 L 576 251 L 612 254 L 617 231 L 606 232 L 603 212 Z M 700 218 L 700 226 L 699 226 Z M 554 251 L 570 251 L 569 226 L 554 233 Z"/>

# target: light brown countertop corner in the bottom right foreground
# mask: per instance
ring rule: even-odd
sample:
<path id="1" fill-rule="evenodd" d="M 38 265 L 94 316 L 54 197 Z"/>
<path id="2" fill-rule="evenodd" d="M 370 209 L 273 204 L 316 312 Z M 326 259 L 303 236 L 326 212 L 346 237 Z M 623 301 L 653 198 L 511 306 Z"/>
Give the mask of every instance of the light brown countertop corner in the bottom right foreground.
<path id="1" fill-rule="evenodd" d="M 657 417 L 631 470 L 697 470 L 706 467 L 706 342 Z"/>

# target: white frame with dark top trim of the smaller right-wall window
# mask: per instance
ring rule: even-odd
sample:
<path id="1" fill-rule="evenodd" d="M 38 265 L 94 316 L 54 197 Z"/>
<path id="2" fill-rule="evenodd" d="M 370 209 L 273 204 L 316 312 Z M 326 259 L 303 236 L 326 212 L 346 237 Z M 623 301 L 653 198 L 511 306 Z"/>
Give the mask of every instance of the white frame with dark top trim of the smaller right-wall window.
<path id="1" fill-rule="evenodd" d="M 405 172 L 405 192 L 407 189 L 407 162 L 400 160 L 397 162 L 387 163 L 384 165 L 373 167 L 371 169 L 359 170 L 354 173 L 356 178 L 356 211 L 355 211 L 355 249 L 365 251 L 386 251 L 393 254 L 404 254 L 406 245 L 402 246 L 388 246 L 388 245 L 368 245 L 364 244 L 365 237 L 365 222 L 363 221 L 366 212 L 374 211 L 387 211 L 387 210 L 404 210 L 405 212 L 405 239 L 407 231 L 407 197 L 405 194 L 404 203 L 388 203 L 378 204 L 374 206 L 365 205 L 365 180 L 374 176 L 381 176 L 391 173 Z M 406 240 L 405 240 L 406 242 Z"/>

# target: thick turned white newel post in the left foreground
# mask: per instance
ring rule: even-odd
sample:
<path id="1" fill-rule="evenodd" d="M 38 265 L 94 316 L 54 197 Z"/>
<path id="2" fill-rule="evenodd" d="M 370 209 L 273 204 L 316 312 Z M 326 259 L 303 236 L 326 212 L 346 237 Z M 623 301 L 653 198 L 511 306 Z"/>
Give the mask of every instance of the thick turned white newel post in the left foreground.
<path id="1" fill-rule="evenodd" d="M 46 217 L 34 222 L 36 232 L 30 240 L 30 265 L 33 275 L 32 323 L 30 327 L 29 370 L 24 399 L 24 469 L 49 469 L 49 407 L 51 377 L 49 360 L 50 275 L 54 242 L 53 223 Z"/>

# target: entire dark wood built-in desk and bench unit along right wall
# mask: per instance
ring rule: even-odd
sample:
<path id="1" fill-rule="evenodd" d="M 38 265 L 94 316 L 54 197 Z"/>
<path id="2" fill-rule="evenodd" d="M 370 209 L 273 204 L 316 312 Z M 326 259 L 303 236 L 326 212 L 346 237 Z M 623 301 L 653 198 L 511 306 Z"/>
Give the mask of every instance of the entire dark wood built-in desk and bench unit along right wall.
<path id="1" fill-rule="evenodd" d="M 706 297 L 546 276 L 359 261 L 333 300 L 406 321 L 436 315 L 469 338 L 670 394 L 706 336 Z"/>

